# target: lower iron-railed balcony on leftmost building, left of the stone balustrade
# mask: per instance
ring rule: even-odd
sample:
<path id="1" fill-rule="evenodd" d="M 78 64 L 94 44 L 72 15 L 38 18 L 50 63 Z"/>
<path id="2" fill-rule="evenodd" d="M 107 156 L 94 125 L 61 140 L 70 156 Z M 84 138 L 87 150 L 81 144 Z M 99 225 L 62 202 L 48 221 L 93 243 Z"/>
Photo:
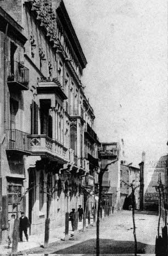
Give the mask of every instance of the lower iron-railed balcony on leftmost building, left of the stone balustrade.
<path id="1" fill-rule="evenodd" d="M 7 151 L 18 151 L 30 154 L 29 133 L 16 129 L 7 130 Z"/>

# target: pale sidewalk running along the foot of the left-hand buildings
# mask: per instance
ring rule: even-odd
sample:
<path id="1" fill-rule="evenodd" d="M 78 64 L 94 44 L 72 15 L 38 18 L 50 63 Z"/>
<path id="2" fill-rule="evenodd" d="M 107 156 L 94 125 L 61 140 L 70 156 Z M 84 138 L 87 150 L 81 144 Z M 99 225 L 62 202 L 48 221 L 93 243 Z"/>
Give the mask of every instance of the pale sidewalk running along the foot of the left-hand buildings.
<path id="1" fill-rule="evenodd" d="M 91 225 L 93 224 L 93 218 L 91 218 Z M 86 219 L 86 227 L 87 219 Z M 78 231 L 83 230 L 83 221 L 78 222 Z M 69 222 L 69 235 L 73 235 L 74 232 L 71 228 L 71 222 Z M 60 241 L 61 239 L 65 238 L 65 227 L 57 227 L 57 229 L 50 230 L 49 234 L 49 243 Z M 18 253 L 21 251 L 25 251 L 27 249 L 43 246 L 44 244 L 44 233 L 39 233 L 37 235 L 31 235 L 29 236 L 29 242 L 26 242 L 26 238 L 23 234 L 23 241 L 18 243 Z M 10 244 L 10 248 L 8 249 L 8 242 L 5 244 L 1 244 L 0 246 L 0 254 L 10 254 L 12 250 L 12 244 Z"/>

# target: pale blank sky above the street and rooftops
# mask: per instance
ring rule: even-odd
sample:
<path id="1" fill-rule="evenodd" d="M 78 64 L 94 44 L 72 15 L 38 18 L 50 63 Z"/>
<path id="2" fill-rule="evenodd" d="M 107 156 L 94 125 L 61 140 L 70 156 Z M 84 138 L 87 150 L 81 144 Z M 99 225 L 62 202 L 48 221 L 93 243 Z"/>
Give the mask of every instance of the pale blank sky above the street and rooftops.
<path id="1" fill-rule="evenodd" d="M 167 154 L 167 1 L 64 0 L 87 58 L 82 82 L 100 142 L 128 162 Z"/>

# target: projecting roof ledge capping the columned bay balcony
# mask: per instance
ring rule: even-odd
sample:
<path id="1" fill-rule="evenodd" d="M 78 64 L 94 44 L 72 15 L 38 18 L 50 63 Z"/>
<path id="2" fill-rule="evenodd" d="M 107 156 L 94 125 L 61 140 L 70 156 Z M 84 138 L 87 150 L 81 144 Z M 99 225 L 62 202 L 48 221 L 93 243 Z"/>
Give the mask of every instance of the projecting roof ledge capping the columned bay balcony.
<path id="1" fill-rule="evenodd" d="M 61 99 L 67 99 L 63 91 L 63 87 L 61 86 L 57 77 L 55 77 L 52 81 L 46 77 L 41 77 L 41 79 L 38 80 L 37 93 L 57 93 Z"/>

